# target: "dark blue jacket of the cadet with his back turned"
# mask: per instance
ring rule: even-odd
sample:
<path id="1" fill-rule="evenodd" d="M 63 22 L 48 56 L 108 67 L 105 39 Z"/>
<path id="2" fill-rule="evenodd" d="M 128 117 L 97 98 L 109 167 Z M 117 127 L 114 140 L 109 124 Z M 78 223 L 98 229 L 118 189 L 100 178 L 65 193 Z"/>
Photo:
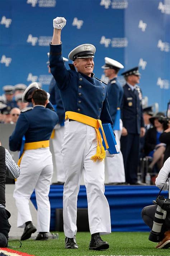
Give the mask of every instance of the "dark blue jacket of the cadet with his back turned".
<path id="1" fill-rule="evenodd" d="M 9 137 L 10 150 L 20 150 L 24 135 L 25 143 L 49 140 L 52 130 L 57 123 L 58 116 L 52 110 L 51 103 L 48 103 L 46 108 L 35 106 L 31 110 L 21 112 L 16 122 L 15 130 Z"/>

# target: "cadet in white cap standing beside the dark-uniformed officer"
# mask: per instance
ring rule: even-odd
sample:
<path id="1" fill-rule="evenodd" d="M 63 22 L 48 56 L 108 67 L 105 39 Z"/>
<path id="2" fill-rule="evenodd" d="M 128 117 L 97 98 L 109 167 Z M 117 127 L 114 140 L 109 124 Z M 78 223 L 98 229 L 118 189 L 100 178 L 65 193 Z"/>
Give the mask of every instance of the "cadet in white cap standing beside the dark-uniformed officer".
<path id="1" fill-rule="evenodd" d="M 125 182 L 123 156 L 121 152 L 121 134 L 122 134 L 122 120 L 120 114 L 120 107 L 123 97 L 123 88 L 117 81 L 118 72 L 124 68 L 121 63 L 108 57 L 104 58 L 105 65 L 101 68 L 104 69 L 105 76 L 109 78 L 108 82 L 108 101 L 109 113 L 113 122 L 113 131 L 118 145 L 119 154 L 114 158 L 106 157 L 105 159 L 105 172 L 108 176 L 108 184 L 122 184 Z"/>

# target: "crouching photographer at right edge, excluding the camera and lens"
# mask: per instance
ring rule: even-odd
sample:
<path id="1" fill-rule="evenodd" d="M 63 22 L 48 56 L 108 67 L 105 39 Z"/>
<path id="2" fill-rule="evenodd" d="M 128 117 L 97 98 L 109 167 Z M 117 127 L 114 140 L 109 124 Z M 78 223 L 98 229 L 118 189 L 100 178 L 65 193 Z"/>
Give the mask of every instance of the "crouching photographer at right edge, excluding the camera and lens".
<path id="1" fill-rule="evenodd" d="M 163 190 L 169 190 L 169 199 L 170 199 L 170 186 L 169 186 L 169 173 L 170 173 L 170 157 L 165 161 L 164 166 L 161 168 L 157 178 L 156 178 L 156 187 L 160 189 L 163 187 Z M 165 185 L 164 185 L 165 184 Z M 152 229 L 154 223 L 155 212 L 157 205 L 149 205 L 142 209 L 141 215 L 143 221 Z M 158 219 L 159 220 L 159 219 Z M 155 230 L 156 232 L 156 230 Z M 167 211 L 166 218 L 161 228 L 160 241 L 157 244 L 156 248 L 169 248 L 170 247 L 170 213 Z"/>

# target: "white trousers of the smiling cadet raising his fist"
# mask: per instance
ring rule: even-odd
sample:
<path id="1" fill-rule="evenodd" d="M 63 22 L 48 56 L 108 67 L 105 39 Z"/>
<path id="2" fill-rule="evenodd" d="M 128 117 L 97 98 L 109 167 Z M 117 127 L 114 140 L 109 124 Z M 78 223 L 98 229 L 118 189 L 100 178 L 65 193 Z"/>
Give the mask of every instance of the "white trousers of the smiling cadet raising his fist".
<path id="1" fill-rule="evenodd" d="M 66 177 L 63 191 L 66 237 L 72 238 L 77 232 L 77 195 L 82 173 L 88 199 L 90 233 L 111 233 L 109 204 L 104 196 L 104 162 L 90 160 L 96 154 L 96 146 L 93 127 L 76 121 L 65 122 L 61 153 Z"/>

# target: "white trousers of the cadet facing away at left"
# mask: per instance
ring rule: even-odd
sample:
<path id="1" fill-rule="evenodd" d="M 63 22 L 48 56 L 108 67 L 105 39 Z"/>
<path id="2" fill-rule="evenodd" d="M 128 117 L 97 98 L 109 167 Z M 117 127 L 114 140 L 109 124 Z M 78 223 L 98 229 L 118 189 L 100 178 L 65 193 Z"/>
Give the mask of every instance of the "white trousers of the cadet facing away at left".
<path id="1" fill-rule="evenodd" d="M 15 182 L 14 198 L 18 209 L 17 227 L 32 221 L 29 199 L 34 189 L 37 202 L 37 232 L 49 232 L 49 189 L 53 174 L 52 154 L 48 148 L 25 150 L 20 164 L 20 176 Z"/>

